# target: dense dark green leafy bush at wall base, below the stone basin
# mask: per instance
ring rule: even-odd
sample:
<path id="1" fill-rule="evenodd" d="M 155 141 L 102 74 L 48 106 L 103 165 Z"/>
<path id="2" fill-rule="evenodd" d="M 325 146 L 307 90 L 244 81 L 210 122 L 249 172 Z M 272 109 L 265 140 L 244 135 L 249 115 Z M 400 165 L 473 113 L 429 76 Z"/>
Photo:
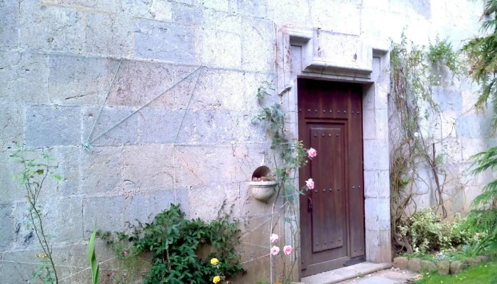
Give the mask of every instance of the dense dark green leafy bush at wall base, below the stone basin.
<path id="1" fill-rule="evenodd" d="M 235 251 L 239 229 L 226 217 L 210 223 L 200 219 L 186 220 L 180 207 L 158 214 L 151 224 L 140 224 L 131 235 L 118 233 L 107 239 L 119 259 L 136 259 L 141 253 L 151 253 L 151 268 L 144 283 L 208 283 L 219 275 L 222 279 L 243 273 L 239 255 Z M 212 251 L 206 257 L 203 251 Z M 219 264 L 209 263 L 212 258 Z M 133 262 L 135 263 L 135 262 Z M 131 275 L 128 280 L 131 281 Z"/>

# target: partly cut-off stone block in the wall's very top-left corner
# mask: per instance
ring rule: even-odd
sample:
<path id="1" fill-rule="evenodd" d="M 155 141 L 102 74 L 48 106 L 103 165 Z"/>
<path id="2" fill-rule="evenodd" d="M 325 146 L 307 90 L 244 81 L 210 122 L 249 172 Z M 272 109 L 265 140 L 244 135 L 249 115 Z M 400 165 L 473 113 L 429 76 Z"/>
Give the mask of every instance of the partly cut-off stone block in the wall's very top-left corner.
<path id="1" fill-rule="evenodd" d="M 17 1 L 0 3 L 0 46 L 15 46 L 18 41 L 19 5 Z"/>

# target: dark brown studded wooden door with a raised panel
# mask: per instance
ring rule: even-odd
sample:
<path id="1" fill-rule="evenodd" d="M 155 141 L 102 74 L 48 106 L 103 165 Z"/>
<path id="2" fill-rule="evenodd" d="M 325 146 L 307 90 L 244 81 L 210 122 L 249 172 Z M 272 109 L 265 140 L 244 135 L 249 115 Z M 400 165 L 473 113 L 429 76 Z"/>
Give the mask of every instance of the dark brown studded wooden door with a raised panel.
<path id="1" fill-rule="evenodd" d="M 317 157 L 300 169 L 302 276 L 365 261 L 362 86 L 299 79 L 299 139 Z"/>

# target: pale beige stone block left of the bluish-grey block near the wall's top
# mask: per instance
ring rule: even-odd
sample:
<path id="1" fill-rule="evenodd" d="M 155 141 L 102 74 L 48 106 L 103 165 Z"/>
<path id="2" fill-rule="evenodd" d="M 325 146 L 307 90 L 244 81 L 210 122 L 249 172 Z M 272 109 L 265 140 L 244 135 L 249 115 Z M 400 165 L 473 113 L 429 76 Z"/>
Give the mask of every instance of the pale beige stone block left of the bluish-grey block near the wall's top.
<path id="1" fill-rule="evenodd" d="M 154 1 L 155 3 L 165 3 Z M 133 49 L 131 19 L 104 13 L 84 16 L 84 50 L 99 55 L 128 57 Z"/>

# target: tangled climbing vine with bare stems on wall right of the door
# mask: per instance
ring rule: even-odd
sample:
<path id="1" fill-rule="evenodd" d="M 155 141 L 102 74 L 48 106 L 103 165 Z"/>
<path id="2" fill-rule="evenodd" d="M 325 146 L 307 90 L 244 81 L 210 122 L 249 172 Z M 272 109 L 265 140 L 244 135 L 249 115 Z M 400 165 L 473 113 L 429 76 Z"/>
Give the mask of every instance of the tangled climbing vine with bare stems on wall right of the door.
<path id="1" fill-rule="evenodd" d="M 400 43 L 391 43 L 391 229 L 398 251 L 413 253 L 415 249 L 399 230 L 410 225 L 417 208 L 415 197 L 435 192 L 434 211 L 442 219 L 447 217 L 444 204 L 450 196 L 445 187 L 452 181 L 444 165 L 448 136 L 442 131 L 433 95 L 437 89 L 451 87 L 462 70 L 460 56 L 448 40 L 437 37 L 425 48 L 408 44 L 403 34 Z M 426 185 L 427 192 L 420 191 L 421 185 Z"/>

